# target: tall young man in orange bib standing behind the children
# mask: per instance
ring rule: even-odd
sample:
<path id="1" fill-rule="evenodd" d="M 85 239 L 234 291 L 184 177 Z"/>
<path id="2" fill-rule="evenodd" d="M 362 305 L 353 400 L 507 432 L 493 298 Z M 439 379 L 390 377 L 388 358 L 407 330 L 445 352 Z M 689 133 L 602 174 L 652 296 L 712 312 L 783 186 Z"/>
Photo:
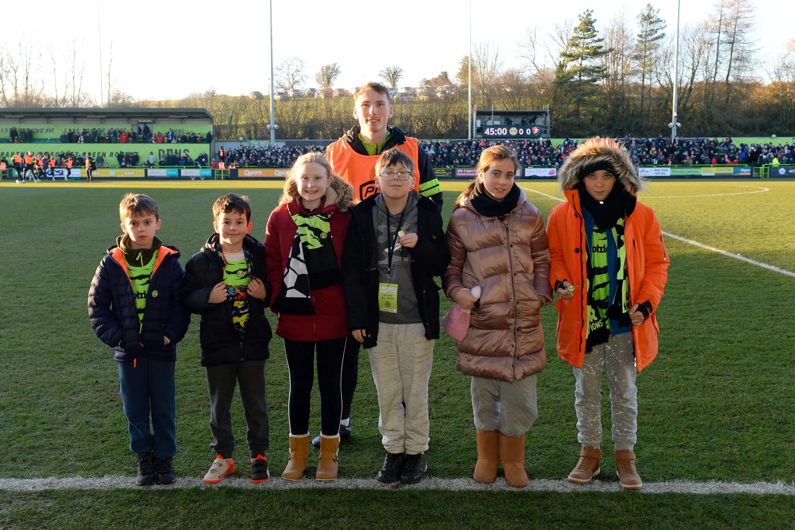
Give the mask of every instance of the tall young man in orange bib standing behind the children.
<path id="1" fill-rule="evenodd" d="M 436 203 L 441 211 L 442 188 L 428 154 L 421 149 L 417 138 L 387 125 L 393 114 L 389 89 L 382 83 L 366 83 L 354 92 L 354 102 L 353 115 L 359 125 L 351 127 L 326 149 L 326 158 L 335 175 L 353 186 L 354 203 L 375 195 L 375 163 L 381 153 L 397 148 L 414 163 L 414 189 Z M 343 420 L 339 425 L 343 440 L 351 436 L 351 401 L 359 378 L 359 342 L 348 341 L 348 344 L 343 363 Z M 320 436 L 312 440 L 312 445 L 320 448 Z"/>

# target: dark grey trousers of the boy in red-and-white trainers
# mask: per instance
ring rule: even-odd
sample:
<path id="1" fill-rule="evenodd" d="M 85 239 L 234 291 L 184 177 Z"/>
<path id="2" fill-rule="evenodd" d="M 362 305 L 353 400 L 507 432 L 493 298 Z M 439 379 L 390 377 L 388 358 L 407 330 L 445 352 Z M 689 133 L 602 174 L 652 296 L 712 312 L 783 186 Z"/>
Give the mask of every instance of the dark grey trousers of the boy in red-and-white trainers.
<path id="1" fill-rule="evenodd" d="M 232 398 L 235 384 L 246 412 L 246 442 L 251 458 L 265 456 L 270 447 L 268 404 L 265 400 L 265 361 L 242 361 L 207 367 L 207 390 L 210 392 L 210 451 L 221 458 L 232 458 L 235 435 L 232 434 Z"/>

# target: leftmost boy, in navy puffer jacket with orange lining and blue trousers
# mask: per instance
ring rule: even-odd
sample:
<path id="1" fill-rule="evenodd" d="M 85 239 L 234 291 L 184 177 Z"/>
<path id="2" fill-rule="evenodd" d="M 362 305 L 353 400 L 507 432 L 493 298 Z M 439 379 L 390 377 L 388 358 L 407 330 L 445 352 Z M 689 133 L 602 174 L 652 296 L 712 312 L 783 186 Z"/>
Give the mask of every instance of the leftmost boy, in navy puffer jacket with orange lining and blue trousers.
<path id="1" fill-rule="evenodd" d="M 100 261 L 88 291 L 96 335 L 116 349 L 130 451 L 138 455 L 138 486 L 176 481 L 176 343 L 190 313 L 180 303 L 180 250 L 155 236 L 157 203 L 128 193 L 118 207 L 125 234 Z M 151 416 L 152 431 L 149 432 Z"/>

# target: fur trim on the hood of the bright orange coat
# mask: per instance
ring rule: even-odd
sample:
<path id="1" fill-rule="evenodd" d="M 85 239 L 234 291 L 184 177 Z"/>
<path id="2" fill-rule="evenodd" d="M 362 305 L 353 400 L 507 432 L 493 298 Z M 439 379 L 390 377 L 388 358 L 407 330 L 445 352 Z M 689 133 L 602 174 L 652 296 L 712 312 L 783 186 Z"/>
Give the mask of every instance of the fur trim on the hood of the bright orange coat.
<path id="1" fill-rule="evenodd" d="M 608 162 L 615 169 L 619 180 L 633 195 L 646 188 L 646 180 L 638 176 L 638 169 L 632 164 L 630 153 L 623 145 L 607 138 L 589 138 L 572 151 L 557 175 L 560 191 L 575 187 L 580 181 L 580 170 L 595 162 Z"/>

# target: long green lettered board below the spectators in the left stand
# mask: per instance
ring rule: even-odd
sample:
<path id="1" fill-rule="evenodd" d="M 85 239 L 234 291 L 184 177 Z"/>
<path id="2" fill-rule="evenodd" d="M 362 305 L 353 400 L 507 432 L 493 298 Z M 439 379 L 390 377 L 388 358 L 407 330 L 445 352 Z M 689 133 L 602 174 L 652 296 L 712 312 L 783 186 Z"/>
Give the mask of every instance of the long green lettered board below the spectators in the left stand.
<path id="1" fill-rule="evenodd" d="M 167 153 L 188 153 L 192 159 L 196 159 L 201 153 L 210 154 L 210 146 L 207 144 L 0 144 L 0 158 L 11 160 L 14 153 L 25 156 L 28 151 L 37 153 L 91 153 L 95 158 L 102 154 L 105 164 L 111 167 L 118 166 L 116 160 L 117 153 L 138 153 L 141 163 L 148 157 L 149 153 L 154 153 L 157 161 Z M 207 157 L 209 160 L 211 157 Z M 157 164 L 157 161 L 155 162 Z"/>

